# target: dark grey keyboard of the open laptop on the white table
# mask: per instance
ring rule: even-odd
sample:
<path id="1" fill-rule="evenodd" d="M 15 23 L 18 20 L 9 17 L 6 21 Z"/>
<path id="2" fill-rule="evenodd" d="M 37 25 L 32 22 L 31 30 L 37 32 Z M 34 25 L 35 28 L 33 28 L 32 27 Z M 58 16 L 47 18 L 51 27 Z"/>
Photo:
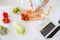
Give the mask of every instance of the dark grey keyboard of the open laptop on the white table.
<path id="1" fill-rule="evenodd" d="M 55 25 L 52 22 L 50 22 L 40 32 L 43 34 L 43 36 L 46 36 L 54 27 Z"/>

